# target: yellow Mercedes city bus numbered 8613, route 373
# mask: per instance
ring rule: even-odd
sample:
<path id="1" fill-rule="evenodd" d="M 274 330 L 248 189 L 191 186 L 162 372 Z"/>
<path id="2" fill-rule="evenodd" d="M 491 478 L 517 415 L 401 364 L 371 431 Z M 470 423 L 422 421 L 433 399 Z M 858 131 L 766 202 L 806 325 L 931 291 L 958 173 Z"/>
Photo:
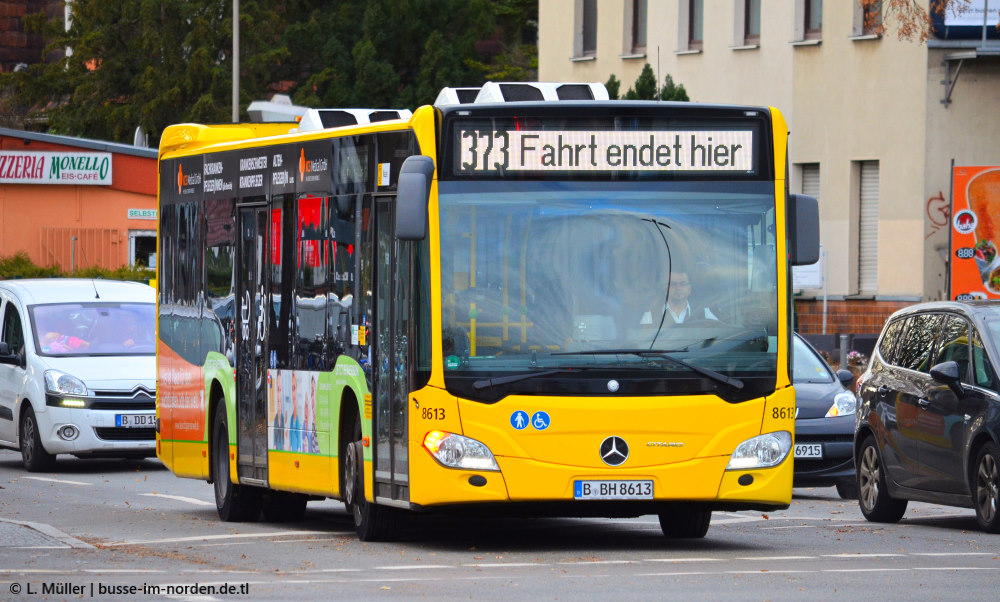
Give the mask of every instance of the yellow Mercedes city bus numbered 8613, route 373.
<path id="1" fill-rule="evenodd" d="M 790 266 L 819 226 L 786 138 L 773 108 L 600 84 L 169 127 L 157 455 L 223 520 L 332 498 L 363 540 L 787 507 Z"/>

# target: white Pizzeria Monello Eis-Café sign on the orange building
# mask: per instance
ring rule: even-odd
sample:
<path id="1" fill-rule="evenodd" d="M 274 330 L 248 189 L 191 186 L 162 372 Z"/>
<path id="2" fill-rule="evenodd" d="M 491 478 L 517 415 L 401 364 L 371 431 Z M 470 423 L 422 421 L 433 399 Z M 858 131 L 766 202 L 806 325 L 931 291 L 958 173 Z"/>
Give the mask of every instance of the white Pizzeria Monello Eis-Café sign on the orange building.
<path id="1" fill-rule="evenodd" d="M 111 185 L 111 153 L 0 151 L 0 184 Z"/>

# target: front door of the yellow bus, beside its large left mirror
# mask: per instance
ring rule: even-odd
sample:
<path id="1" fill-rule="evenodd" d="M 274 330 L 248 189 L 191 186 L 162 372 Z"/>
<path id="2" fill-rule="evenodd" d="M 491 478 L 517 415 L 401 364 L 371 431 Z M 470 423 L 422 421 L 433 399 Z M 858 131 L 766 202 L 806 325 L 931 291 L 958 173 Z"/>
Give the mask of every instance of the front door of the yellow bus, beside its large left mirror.
<path id="1" fill-rule="evenodd" d="M 375 497 L 408 502 L 407 395 L 412 372 L 412 278 L 405 245 L 396 240 L 395 197 L 376 197 L 374 439 Z"/>

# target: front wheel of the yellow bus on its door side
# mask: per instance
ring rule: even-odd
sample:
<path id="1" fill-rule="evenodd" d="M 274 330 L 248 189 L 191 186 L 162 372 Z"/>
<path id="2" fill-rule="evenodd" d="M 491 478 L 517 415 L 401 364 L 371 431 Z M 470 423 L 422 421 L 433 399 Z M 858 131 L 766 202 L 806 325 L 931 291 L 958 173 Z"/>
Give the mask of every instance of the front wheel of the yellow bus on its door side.
<path id="1" fill-rule="evenodd" d="M 399 516 L 365 499 L 364 445 L 361 441 L 361 419 L 356 418 L 354 435 L 345 445 L 344 506 L 354 519 L 354 530 L 361 541 L 393 541 L 398 536 Z"/>

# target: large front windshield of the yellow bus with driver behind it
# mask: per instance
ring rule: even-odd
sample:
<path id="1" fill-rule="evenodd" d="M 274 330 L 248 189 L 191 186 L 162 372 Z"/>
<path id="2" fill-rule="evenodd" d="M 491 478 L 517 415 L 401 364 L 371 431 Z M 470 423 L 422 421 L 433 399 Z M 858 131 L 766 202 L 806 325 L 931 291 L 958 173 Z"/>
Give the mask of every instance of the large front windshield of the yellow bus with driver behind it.
<path id="1" fill-rule="evenodd" d="M 607 394 L 609 378 L 637 395 L 738 401 L 773 391 L 773 191 L 770 182 L 441 182 L 449 391 L 481 401 Z"/>

